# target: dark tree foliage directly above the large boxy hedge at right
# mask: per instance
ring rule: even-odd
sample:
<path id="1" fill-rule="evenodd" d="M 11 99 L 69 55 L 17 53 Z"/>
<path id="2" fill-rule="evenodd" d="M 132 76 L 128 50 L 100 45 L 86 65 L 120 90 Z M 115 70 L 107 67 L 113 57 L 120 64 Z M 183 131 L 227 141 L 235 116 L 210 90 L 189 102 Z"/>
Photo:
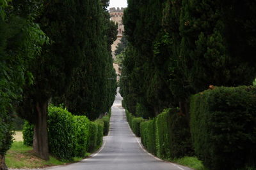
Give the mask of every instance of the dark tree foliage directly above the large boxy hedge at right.
<path id="1" fill-rule="evenodd" d="M 256 69 L 248 56 L 256 53 L 255 44 L 250 43 L 255 39 L 255 5 L 254 1 L 183 1 L 180 55 L 184 56 L 186 79 L 195 92 L 211 84 L 252 84 Z"/>

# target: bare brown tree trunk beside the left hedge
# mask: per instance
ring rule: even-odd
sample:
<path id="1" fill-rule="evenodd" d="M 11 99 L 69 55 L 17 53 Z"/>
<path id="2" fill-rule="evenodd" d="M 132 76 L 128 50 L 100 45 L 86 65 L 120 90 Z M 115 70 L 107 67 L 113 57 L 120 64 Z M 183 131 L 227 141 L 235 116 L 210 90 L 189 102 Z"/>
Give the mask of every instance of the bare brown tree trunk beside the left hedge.
<path id="1" fill-rule="evenodd" d="M 38 157 L 49 160 L 49 146 L 47 134 L 48 101 L 36 103 L 36 122 L 34 127 L 33 150 Z"/>

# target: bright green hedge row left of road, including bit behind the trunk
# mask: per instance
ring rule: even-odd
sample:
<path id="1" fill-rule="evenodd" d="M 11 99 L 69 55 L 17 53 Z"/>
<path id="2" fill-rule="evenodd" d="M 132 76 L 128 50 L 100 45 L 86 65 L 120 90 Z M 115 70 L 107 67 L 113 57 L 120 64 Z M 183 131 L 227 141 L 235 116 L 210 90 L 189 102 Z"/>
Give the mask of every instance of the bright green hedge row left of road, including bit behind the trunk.
<path id="1" fill-rule="evenodd" d="M 49 152 L 58 159 L 84 157 L 86 152 L 93 152 L 102 144 L 109 115 L 90 122 L 85 116 L 74 116 L 62 108 L 50 106 L 48 111 Z M 25 145 L 33 144 L 33 125 L 28 122 L 24 124 L 23 138 Z"/>

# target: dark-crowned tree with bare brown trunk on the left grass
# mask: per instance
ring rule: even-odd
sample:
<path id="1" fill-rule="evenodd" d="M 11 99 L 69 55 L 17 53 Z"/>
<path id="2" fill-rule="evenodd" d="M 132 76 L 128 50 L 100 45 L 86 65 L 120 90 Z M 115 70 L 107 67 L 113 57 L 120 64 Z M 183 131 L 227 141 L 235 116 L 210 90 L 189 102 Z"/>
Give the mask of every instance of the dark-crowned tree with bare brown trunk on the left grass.
<path id="1" fill-rule="evenodd" d="M 94 1 L 93 1 L 94 2 Z M 95 2 L 95 3 L 98 3 Z M 89 5 L 90 4 L 90 5 Z M 35 125 L 33 149 L 42 159 L 49 159 L 47 140 L 47 106 L 53 96 L 64 94 L 72 73 L 84 59 L 86 36 L 95 27 L 85 29 L 97 15 L 91 1 L 44 1 L 42 15 L 37 17 L 42 30 L 52 41 L 45 45 L 29 70 L 35 83 L 24 89 L 20 115 Z"/>

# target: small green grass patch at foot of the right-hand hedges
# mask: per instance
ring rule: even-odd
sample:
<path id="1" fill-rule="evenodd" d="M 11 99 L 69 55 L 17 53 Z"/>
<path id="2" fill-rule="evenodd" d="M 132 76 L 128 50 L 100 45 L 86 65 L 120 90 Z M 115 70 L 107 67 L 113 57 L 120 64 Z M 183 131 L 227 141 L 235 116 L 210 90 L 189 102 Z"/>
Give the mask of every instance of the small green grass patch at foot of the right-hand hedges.
<path id="1" fill-rule="evenodd" d="M 207 170 L 202 164 L 201 160 L 198 160 L 196 157 L 183 157 L 180 159 L 170 160 L 182 166 L 187 166 L 195 170 Z"/>

